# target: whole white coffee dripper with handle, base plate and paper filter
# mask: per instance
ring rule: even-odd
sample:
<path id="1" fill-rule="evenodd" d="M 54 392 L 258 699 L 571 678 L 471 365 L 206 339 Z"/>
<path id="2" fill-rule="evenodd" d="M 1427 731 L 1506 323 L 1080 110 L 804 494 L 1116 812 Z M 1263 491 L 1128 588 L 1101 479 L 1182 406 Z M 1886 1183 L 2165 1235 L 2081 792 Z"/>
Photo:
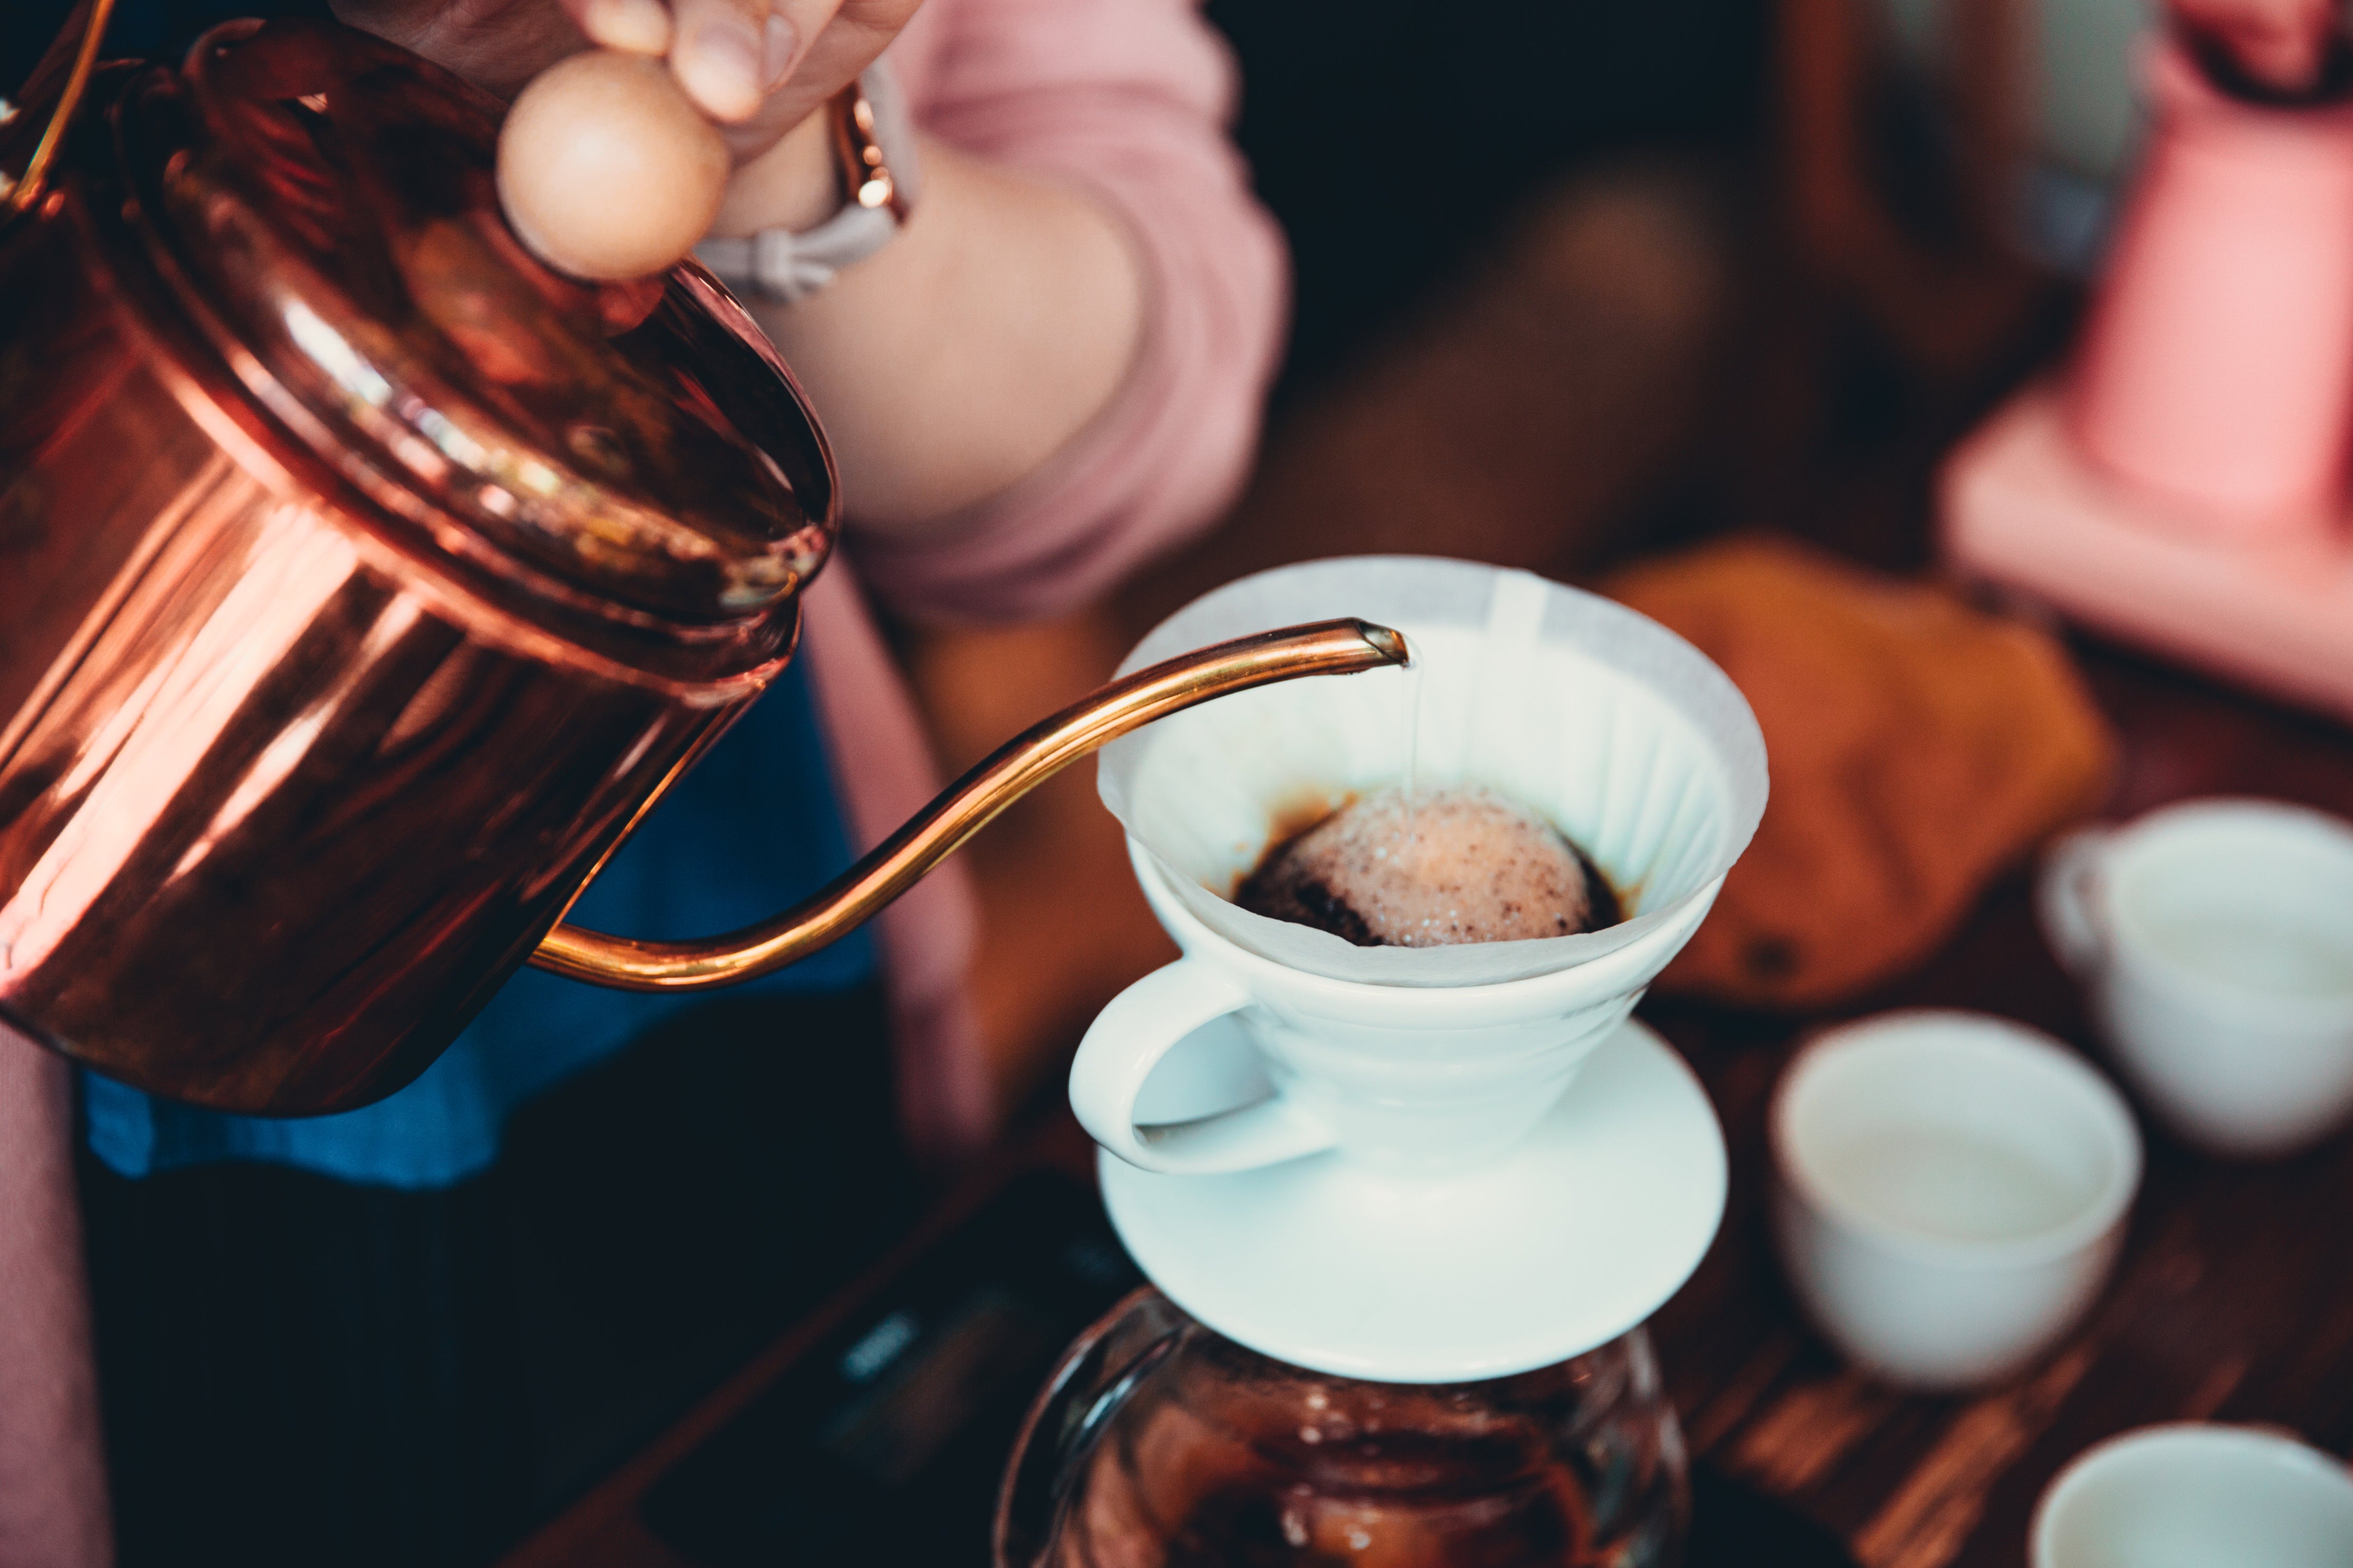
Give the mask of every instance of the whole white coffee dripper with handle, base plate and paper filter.
<path id="1" fill-rule="evenodd" d="M 1242 693 L 1104 750 L 1104 802 L 1184 957 L 1096 1018 L 1071 1103 L 1120 1239 L 1219 1333 L 1386 1382 L 1551 1366 L 1642 1324 L 1722 1218 L 1708 1098 L 1628 1011 L 1755 832 L 1762 736 L 1666 628 L 1471 562 L 1268 571 L 1129 663 L 1332 614 L 1395 625 L 1414 668 L 1306 703 Z M 1402 783 L 1409 755 L 1419 788 L 1480 783 L 1551 818 L 1628 919 L 1351 947 L 1226 898 L 1278 827 Z"/>

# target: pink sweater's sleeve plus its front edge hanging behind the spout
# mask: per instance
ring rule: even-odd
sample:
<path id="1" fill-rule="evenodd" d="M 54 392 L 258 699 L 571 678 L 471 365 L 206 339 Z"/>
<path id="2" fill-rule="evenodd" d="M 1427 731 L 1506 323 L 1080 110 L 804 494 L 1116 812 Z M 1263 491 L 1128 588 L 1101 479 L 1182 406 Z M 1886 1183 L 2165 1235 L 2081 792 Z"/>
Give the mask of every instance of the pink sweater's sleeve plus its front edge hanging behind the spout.
<path id="1" fill-rule="evenodd" d="M 805 654 L 864 851 L 941 785 L 866 595 L 918 621 L 1014 621 L 1101 595 L 1240 484 L 1273 371 L 1285 256 L 1226 143 L 1233 68 L 1193 0 L 929 0 L 889 49 L 915 122 L 1085 186 L 1134 235 L 1146 327 L 1127 386 L 1042 470 L 918 541 L 871 538 L 807 595 Z M 951 860 L 880 919 L 918 1147 L 993 1131 L 962 980 L 976 907 Z"/>

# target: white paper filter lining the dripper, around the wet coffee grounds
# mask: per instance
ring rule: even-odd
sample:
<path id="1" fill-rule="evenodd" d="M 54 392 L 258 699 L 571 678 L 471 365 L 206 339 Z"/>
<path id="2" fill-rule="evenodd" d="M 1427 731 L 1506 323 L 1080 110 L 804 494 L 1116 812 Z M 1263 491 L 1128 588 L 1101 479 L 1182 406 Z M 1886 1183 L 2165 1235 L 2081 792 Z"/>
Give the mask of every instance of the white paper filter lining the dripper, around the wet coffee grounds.
<path id="1" fill-rule="evenodd" d="M 1652 931 L 1748 846 L 1765 738 L 1739 689 L 1657 621 L 1527 571 L 1419 555 L 1264 571 L 1162 621 L 1120 675 L 1334 616 L 1398 628 L 1414 665 L 1242 691 L 1101 752 L 1104 804 L 1228 940 L 1337 980 L 1520 980 Z M 1355 947 L 1228 900 L 1278 827 L 1405 780 L 1409 752 L 1417 788 L 1480 783 L 1548 816 L 1631 919 L 1525 943 Z"/>

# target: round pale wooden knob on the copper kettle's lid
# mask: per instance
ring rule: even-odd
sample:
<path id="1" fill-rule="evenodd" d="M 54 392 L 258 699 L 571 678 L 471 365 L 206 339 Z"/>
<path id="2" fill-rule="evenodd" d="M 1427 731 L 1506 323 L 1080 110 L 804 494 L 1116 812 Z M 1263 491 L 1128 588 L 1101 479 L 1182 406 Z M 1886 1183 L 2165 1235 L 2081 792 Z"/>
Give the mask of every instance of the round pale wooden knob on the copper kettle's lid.
<path id="1" fill-rule="evenodd" d="M 548 266 L 614 282 L 675 266 L 718 216 L 718 127 L 642 54 L 591 49 L 515 99 L 499 132 L 499 202 Z"/>

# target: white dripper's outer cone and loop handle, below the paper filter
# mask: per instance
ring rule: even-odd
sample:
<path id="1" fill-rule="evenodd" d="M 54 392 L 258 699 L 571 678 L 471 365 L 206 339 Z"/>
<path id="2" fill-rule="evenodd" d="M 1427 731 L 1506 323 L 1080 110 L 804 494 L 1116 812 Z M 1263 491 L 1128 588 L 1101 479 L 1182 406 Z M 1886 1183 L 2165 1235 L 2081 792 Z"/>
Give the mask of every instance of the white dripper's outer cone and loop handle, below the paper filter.
<path id="1" fill-rule="evenodd" d="M 1212 1175 L 1320 1150 L 1391 1171 L 1459 1171 L 1508 1152 L 1624 1023 L 1715 903 L 1722 877 L 1664 924 L 1602 957 L 1499 985 L 1332 980 L 1209 931 L 1151 853 L 1129 858 L 1184 957 L 1096 1016 L 1071 1067 L 1071 1107 L 1106 1150 L 1146 1171 Z M 1238 1013 L 1275 1093 L 1174 1124 L 1136 1124 L 1160 1058 Z"/>

